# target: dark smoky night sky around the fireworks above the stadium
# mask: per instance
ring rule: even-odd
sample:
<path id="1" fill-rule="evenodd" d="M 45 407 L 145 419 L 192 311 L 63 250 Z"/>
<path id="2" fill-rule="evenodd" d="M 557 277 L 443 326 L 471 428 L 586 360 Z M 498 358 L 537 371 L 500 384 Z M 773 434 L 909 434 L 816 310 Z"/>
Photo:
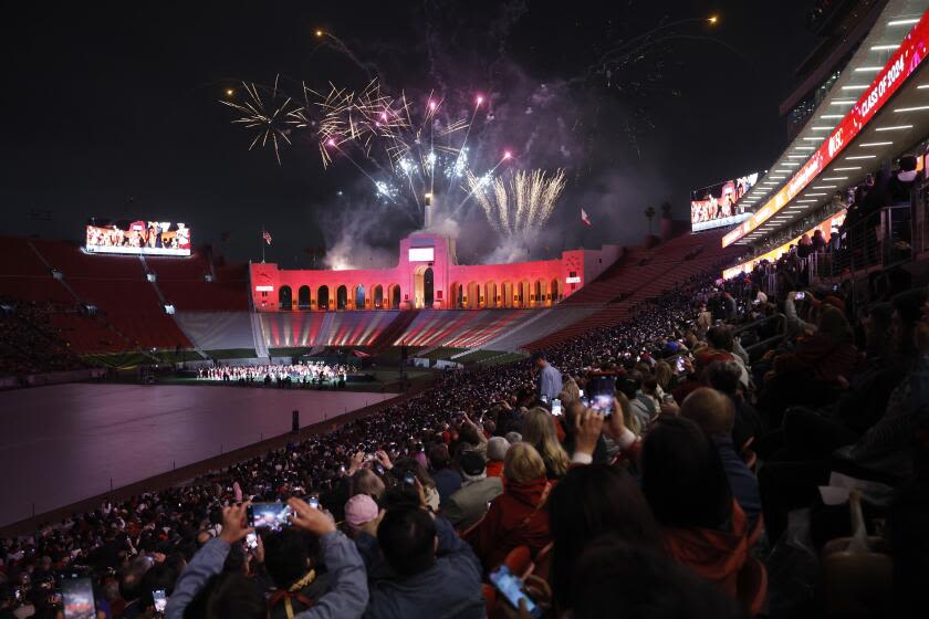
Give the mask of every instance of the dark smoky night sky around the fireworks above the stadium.
<path id="1" fill-rule="evenodd" d="M 810 4 L 18 3 L 0 27 L 8 67 L 0 232 L 80 241 L 91 216 L 157 219 L 186 222 L 195 244 L 213 242 L 234 259 L 259 255 L 262 227 L 274 237 L 269 261 L 285 266 L 307 264 L 305 248 L 344 237 L 389 254 L 414 227 L 396 207 L 369 203 L 357 170 L 342 161 L 324 171 L 307 134 L 279 166 L 273 151 L 248 150 L 251 137 L 217 103 L 226 88 L 240 96 L 240 80 L 271 84 L 276 74 L 322 90 L 330 81 L 364 85 L 364 71 L 320 45 L 321 28 L 394 90 L 435 88 L 449 101 L 488 93 L 494 147 L 512 144 L 525 167 L 567 168 L 568 187 L 533 258 L 635 243 L 646 207 L 667 200 L 687 217 L 690 189 L 762 169 L 783 149 L 777 106 L 814 44 Z M 584 78 L 605 51 L 662 19 L 710 14 L 716 27 L 675 27 L 674 40 L 609 87 L 603 76 Z M 638 82 L 644 92 L 628 85 Z M 524 99 L 542 84 L 552 101 L 530 115 Z M 580 224 L 581 207 L 594 228 Z M 479 211 L 461 224 L 463 261 L 497 244 Z"/>

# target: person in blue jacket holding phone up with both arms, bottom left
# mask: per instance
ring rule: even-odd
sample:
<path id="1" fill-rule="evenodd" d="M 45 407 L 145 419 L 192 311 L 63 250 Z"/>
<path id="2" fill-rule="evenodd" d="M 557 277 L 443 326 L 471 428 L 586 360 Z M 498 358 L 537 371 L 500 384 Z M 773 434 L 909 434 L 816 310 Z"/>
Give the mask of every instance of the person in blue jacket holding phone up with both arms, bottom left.
<path id="1" fill-rule="evenodd" d="M 291 525 L 319 536 L 323 559 L 331 578 L 330 591 L 323 595 L 307 610 L 294 619 L 323 619 L 328 617 L 361 617 L 368 601 L 367 575 L 355 545 L 335 528 L 332 518 L 321 510 L 314 510 L 300 499 L 291 499 Z M 247 523 L 248 503 L 239 503 L 222 510 L 222 533 L 200 548 L 181 573 L 168 599 L 165 617 L 182 619 L 185 610 L 194 598 L 222 566 L 232 544 L 241 543 L 253 531 Z M 217 609 L 234 605 L 239 617 L 264 617 L 267 607 L 261 588 L 242 577 L 229 574 L 220 577 L 208 592 L 207 604 Z M 251 613 L 247 612 L 251 610 Z M 261 615 L 258 615 L 259 609 Z"/>

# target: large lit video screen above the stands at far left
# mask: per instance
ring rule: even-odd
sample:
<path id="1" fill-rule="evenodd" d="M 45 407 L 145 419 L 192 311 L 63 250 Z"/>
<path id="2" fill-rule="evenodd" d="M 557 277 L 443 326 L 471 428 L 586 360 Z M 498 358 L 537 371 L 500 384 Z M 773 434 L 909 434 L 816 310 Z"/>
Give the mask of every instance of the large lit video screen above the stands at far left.
<path id="1" fill-rule="evenodd" d="M 87 224 L 88 253 L 190 255 L 190 229 L 170 221 L 94 221 Z"/>

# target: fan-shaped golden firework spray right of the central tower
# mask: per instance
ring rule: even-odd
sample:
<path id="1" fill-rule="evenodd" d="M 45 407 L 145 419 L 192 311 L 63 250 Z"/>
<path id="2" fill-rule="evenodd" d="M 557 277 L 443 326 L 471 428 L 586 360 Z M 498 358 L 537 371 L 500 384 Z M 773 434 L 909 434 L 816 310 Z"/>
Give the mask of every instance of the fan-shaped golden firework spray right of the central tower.
<path id="1" fill-rule="evenodd" d="M 467 180 L 488 222 L 508 237 L 524 235 L 541 228 L 554 212 L 565 186 L 562 169 L 551 177 L 542 170 L 519 170 L 492 182 L 469 171 Z"/>

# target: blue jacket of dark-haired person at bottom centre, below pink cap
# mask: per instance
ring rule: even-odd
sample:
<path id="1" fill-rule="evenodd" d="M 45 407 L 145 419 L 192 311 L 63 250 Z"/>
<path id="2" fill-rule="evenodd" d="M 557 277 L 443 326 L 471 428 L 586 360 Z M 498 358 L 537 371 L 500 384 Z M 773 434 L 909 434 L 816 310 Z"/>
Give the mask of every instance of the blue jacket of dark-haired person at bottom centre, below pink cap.
<path id="1" fill-rule="evenodd" d="M 372 584 L 366 619 L 483 619 L 481 564 L 442 517 L 435 565 L 415 576 Z M 302 619 L 302 618 L 301 618 Z"/>

